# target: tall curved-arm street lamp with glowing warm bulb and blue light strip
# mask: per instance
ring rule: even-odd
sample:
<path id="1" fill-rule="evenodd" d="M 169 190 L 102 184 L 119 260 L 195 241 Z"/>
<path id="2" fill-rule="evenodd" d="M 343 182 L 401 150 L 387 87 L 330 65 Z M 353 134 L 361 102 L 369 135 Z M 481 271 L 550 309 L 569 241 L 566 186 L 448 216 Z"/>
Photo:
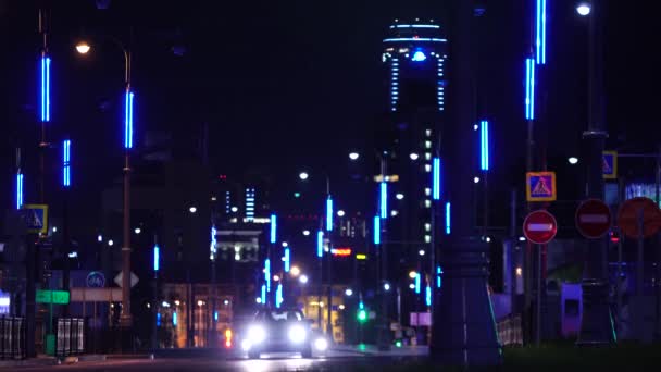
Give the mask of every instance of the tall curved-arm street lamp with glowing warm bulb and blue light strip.
<path id="1" fill-rule="evenodd" d="M 122 247 L 122 312 L 120 325 L 129 327 L 133 324 L 130 313 L 130 150 L 133 149 L 133 100 L 130 86 L 130 49 L 114 37 L 108 37 L 124 54 L 124 166 L 123 171 L 123 247 Z M 89 52 L 87 42 L 76 45 L 80 54 Z"/>

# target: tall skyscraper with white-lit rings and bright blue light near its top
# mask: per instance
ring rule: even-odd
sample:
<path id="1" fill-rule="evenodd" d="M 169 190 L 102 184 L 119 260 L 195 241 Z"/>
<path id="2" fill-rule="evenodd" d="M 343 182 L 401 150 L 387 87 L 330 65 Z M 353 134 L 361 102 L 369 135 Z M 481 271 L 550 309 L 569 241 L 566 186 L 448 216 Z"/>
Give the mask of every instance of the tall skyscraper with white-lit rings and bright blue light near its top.
<path id="1" fill-rule="evenodd" d="M 396 21 L 383 45 L 388 89 L 383 125 L 392 134 L 384 150 L 387 174 L 398 176 L 388 187 L 387 234 L 397 243 L 389 247 L 389 261 L 398 270 L 394 275 L 402 277 L 415 265 L 428 273 L 432 233 L 440 231 L 440 221 L 433 226 L 432 172 L 445 114 L 447 40 L 437 23 Z"/>

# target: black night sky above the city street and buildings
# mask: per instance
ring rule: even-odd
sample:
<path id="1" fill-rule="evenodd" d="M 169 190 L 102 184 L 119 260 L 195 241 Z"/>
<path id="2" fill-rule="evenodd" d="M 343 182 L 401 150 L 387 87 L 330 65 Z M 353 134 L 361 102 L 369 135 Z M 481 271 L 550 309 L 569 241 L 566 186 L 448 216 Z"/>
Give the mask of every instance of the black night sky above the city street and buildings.
<path id="1" fill-rule="evenodd" d="M 475 44 L 481 49 L 479 111 L 498 132 L 494 185 L 509 187 L 523 179 L 514 168 L 524 156 L 529 10 L 523 4 L 533 1 L 486 3 Z M 549 157 L 564 158 L 577 151 L 586 122 L 587 23 L 575 15 L 573 1 L 549 3 Z M 20 140 L 25 157 L 35 157 L 29 146 L 36 144 L 36 4 L 0 1 L 2 206 L 11 203 L 13 145 Z M 620 146 L 615 139 L 626 134 L 636 146 L 651 146 L 659 140 L 653 12 L 638 12 L 624 1 L 608 5 L 610 145 Z M 341 173 L 338 164 L 345 164 L 350 148 L 372 144 L 384 89 L 381 40 L 388 24 L 396 17 L 444 15 L 444 1 L 113 0 L 105 11 L 96 10 L 91 0 L 52 1 L 54 120 L 49 135 L 61 138 L 68 132 L 74 138 L 80 188 L 93 189 L 119 176 L 121 54 L 104 44 L 80 60 L 72 48 L 80 34 L 125 37 L 134 25 L 138 142 L 146 129 L 170 128 L 188 144 L 187 135 L 208 123 L 217 172 L 263 168 L 289 175 L 305 166 Z M 187 49 L 183 57 L 170 51 L 178 42 Z"/>

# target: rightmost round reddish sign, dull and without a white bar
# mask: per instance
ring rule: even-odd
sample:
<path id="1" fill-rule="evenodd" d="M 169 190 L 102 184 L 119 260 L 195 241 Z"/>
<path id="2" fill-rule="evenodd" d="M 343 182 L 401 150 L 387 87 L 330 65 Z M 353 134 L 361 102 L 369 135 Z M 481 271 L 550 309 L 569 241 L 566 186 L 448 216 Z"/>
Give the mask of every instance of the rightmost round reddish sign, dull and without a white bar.
<path id="1" fill-rule="evenodd" d="M 618 212 L 618 226 L 631 238 L 638 237 L 638 224 L 643 213 L 643 236 L 650 237 L 661 227 L 659 206 L 649 198 L 638 197 L 626 200 Z"/>

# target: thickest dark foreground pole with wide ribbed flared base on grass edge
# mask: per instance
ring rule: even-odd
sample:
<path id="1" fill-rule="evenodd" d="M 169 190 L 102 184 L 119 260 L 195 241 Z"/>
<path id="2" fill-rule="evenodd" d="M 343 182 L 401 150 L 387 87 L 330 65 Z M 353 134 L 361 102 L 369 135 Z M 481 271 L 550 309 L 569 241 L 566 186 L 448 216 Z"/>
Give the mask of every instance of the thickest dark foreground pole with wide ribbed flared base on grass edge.
<path id="1" fill-rule="evenodd" d="M 474 235 L 466 206 L 472 206 L 470 183 L 474 173 L 466 166 L 475 159 L 472 79 L 473 1 L 454 0 L 449 3 L 450 95 L 448 96 L 448 125 L 444 128 L 444 148 L 447 149 L 448 176 L 446 234 L 441 266 L 442 290 L 433 302 L 433 332 L 429 345 L 432 359 L 445 365 L 494 365 L 501 362 L 501 350 L 496 334 L 487 293 L 488 247 Z M 467 61 L 467 62 L 466 62 Z M 470 207 L 469 207 L 470 208 Z M 445 239 L 444 239 L 445 240 Z"/>

